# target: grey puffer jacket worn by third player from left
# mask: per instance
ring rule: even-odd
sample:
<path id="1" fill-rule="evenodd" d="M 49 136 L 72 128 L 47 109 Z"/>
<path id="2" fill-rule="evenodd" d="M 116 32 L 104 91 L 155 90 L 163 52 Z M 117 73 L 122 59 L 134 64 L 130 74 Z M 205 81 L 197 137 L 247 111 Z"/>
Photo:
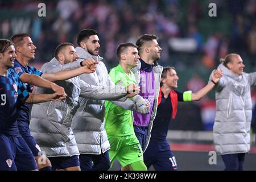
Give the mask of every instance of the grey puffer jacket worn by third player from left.
<path id="1" fill-rule="evenodd" d="M 43 65 L 42 72 L 54 73 L 79 67 L 80 61 L 61 65 L 58 60 L 53 58 Z M 65 81 L 57 81 L 56 84 L 64 87 L 67 98 L 61 102 L 50 101 L 32 106 L 31 135 L 47 156 L 79 155 L 76 139 L 71 129 L 73 115 L 79 108 L 79 96 L 95 100 L 117 100 L 120 98 L 125 100 L 125 88 L 120 86 L 113 90 L 110 87 L 90 86 L 80 80 L 78 76 Z M 52 90 L 38 88 L 36 93 L 52 93 Z"/>

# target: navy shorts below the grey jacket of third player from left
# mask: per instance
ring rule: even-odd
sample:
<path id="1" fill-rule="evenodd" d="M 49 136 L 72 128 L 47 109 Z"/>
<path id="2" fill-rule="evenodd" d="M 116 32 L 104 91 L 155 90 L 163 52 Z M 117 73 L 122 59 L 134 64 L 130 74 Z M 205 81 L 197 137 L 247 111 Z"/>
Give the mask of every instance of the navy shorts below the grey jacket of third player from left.
<path id="1" fill-rule="evenodd" d="M 52 164 L 52 171 L 56 169 L 65 169 L 68 167 L 80 166 L 79 156 L 73 155 L 69 156 L 60 156 L 60 157 L 48 157 Z"/>

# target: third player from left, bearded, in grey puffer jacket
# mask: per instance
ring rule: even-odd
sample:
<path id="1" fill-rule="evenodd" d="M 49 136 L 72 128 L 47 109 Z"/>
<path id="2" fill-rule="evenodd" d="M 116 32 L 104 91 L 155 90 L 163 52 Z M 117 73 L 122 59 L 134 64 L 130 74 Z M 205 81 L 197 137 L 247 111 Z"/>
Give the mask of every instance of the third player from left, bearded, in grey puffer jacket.
<path id="1" fill-rule="evenodd" d="M 65 65 L 76 62 L 77 59 L 78 56 L 73 44 L 62 43 L 57 46 L 55 57 L 42 66 L 42 72 L 58 72 Z M 95 71 L 95 68 L 90 69 L 90 73 Z M 79 150 L 71 129 L 73 115 L 81 107 L 79 105 L 79 96 L 94 100 L 125 100 L 127 92 L 137 88 L 118 86 L 113 89 L 104 86 L 90 86 L 80 80 L 78 76 L 64 81 L 57 81 L 56 83 L 63 86 L 67 93 L 67 98 L 63 102 L 46 102 L 32 106 L 31 135 L 38 142 L 42 151 L 46 152 L 47 157 L 51 160 L 53 169 L 61 168 L 67 171 L 79 171 Z M 48 92 L 51 92 L 51 90 L 45 88 L 36 89 L 36 93 Z M 133 94 L 130 95 L 132 96 Z"/>

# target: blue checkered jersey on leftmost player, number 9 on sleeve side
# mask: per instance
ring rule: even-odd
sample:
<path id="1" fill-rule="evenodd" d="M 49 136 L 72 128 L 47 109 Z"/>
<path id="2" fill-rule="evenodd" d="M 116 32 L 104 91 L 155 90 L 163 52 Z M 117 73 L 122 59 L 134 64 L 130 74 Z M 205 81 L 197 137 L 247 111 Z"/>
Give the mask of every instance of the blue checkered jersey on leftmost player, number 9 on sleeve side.
<path id="1" fill-rule="evenodd" d="M 17 107 L 29 94 L 14 69 L 9 69 L 6 77 L 0 76 L 0 96 L 0 133 L 18 135 Z"/>

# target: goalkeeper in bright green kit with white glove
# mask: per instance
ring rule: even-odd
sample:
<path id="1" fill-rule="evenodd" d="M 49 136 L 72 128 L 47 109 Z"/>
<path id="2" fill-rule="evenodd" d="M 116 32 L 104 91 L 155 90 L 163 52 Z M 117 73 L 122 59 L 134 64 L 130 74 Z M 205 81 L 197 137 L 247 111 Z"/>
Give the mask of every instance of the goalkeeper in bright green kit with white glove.
<path id="1" fill-rule="evenodd" d="M 114 67 L 109 76 L 115 85 L 127 86 L 135 84 L 135 77 L 131 69 L 138 65 L 138 49 L 135 44 L 122 43 L 117 48 L 119 64 Z M 131 98 L 137 102 L 142 114 L 148 114 L 150 103 L 137 95 Z M 139 102 L 139 103 L 138 103 Z M 110 101 L 105 102 L 105 130 L 110 142 L 109 157 L 111 166 L 117 159 L 122 170 L 147 171 L 143 162 L 143 151 L 139 140 L 134 134 L 132 111 L 114 105 Z"/>

